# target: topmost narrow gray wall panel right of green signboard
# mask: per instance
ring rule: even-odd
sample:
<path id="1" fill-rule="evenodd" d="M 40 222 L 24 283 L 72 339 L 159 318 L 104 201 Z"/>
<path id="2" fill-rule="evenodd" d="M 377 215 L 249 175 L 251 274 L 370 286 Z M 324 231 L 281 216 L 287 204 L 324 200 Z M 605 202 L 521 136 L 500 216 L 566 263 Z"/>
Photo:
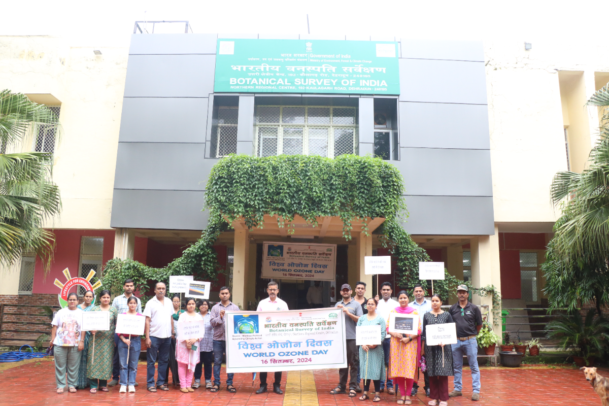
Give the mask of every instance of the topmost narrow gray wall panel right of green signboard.
<path id="1" fill-rule="evenodd" d="M 481 41 L 401 40 L 402 58 L 484 62 Z"/>

